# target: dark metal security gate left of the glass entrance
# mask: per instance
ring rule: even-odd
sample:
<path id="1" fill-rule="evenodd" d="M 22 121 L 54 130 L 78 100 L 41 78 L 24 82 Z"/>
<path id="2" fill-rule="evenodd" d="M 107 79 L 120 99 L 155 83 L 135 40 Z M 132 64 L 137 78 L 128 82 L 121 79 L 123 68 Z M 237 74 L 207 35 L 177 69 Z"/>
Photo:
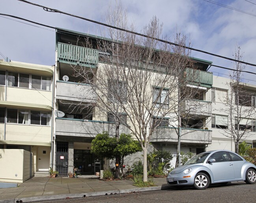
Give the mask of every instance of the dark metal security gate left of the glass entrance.
<path id="1" fill-rule="evenodd" d="M 68 142 L 56 142 L 56 171 L 59 172 L 59 176 L 67 176 L 68 149 Z"/>

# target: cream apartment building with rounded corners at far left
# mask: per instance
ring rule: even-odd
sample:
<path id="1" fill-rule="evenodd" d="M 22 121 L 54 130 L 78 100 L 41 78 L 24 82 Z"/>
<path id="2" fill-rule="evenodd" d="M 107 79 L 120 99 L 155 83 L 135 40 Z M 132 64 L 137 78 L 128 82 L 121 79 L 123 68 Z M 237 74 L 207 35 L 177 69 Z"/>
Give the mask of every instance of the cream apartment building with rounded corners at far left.
<path id="1" fill-rule="evenodd" d="M 52 166 L 53 79 L 52 66 L 0 60 L 0 149 L 33 153 L 34 171 Z"/>

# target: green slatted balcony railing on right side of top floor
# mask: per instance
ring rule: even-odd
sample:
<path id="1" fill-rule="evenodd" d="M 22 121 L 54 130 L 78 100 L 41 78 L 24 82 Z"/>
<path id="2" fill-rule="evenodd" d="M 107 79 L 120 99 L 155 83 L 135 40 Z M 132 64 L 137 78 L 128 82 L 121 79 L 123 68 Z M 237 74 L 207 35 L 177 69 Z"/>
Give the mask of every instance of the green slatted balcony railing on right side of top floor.
<path id="1" fill-rule="evenodd" d="M 213 73 L 196 69 L 186 69 L 187 80 L 190 84 L 211 88 L 213 85 Z"/>

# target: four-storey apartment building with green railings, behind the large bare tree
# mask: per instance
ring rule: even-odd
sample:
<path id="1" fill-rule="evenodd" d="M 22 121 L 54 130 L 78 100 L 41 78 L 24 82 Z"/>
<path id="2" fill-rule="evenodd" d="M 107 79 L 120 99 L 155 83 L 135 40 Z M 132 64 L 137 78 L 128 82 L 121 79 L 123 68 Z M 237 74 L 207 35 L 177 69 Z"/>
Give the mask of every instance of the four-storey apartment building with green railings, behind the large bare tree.
<path id="1" fill-rule="evenodd" d="M 81 174 L 93 174 L 99 169 L 108 168 L 107 160 L 100 160 L 90 149 L 91 142 L 98 133 L 108 131 L 110 135 L 115 135 L 114 120 L 111 115 L 106 117 L 97 114 L 94 105 L 96 96 L 92 88 L 82 78 L 75 76 L 76 69 L 78 71 L 80 67 L 83 67 L 84 73 L 90 74 L 88 70 L 97 71 L 104 63 L 104 54 L 97 50 L 97 40 L 108 39 L 56 28 L 54 163 L 60 175 L 72 171 L 73 166 Z M 86 47 L 88 41 L 90 48 Z M 213 75 L 207 71 L 211 61 L 197 58 L 191 60 L 196 64 L 196 70 L 192 73 L 193 70 L 188 68 L 186 72 L 197 75 L 196 81 L 190 85 L 199 88 L 194 96 L 196 102 L 191 100 L 183 104 L 185 113 L 182 115 L 181 133 L 184 135 L 181 136 L 181 150 L 200 153 L 211 144 L 212 130 L 209 121 L 212 103 L 207 92 L 213 85 Z M 129 130 L 123 127 L 121 132 L 129 133 Z M 177 151 L 177 142 L 175 127 L 166 123 L 160 125 L 151 138 L 153 147 L 174 154 Z"/>

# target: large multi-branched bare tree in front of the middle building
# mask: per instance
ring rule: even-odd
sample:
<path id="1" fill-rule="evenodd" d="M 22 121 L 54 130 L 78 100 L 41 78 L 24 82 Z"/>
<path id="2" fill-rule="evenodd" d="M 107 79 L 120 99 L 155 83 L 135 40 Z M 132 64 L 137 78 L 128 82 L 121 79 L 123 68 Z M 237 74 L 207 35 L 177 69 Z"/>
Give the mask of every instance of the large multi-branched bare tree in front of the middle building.
<path id="1" fill-rule="evenodd" d="M 107 19 L 113 26 L 128 27 L 120 5 L 109 12 Z M 134 26 L 129 26 L 129 30 L 134 30 Z M 92 37 L 83 39 L 84 46 L 99 50 L 98 67 L 74 66 L 75 76 L 90 84 L 97 95 L 96 101 L 88 104 L 95 106 L 95 116 L 114 121 L 117 138 L 120 130 L 128 129 L 140 142 L 145 182 L 152 134 L 165 122 L 176 127 L 180 141 L 181 119 L 188 112 L 182 109 L 182 104 L 198 92 L 198 84 L 191 86 L 198 74 L 192 71 L 194 61 L 190 52 L 183 48 L 186 37 L 177 34 L 176 43 L 180 46 L 173 47 L 155 40 L 161 38 L 161 32 L 162 24 L 156 17 L 142 30 L 148 37 L 114 28 L 102 30 L 101 34 L 108 38 L 97 37 L 94 42 Z M 116 163 L 118 166 L 118 159 Z M 116 167 L 116 177 L 118 171 Z"/>

